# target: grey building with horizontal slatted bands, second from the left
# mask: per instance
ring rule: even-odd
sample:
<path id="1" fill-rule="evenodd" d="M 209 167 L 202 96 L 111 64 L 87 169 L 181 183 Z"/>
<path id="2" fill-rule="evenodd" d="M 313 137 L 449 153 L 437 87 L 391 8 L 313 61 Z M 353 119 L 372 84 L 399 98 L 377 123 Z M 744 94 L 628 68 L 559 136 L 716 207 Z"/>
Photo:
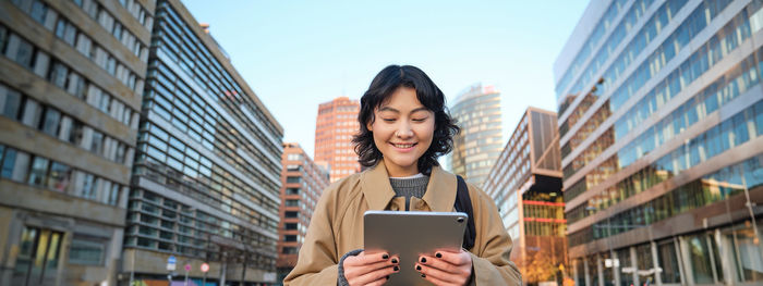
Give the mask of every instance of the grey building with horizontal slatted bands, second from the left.
<path id="1" fill-rule="evenodd" d="M 122 276 L 275 283 L 283 130 L 179 0 L 156 2 L 140 126 Z"/>

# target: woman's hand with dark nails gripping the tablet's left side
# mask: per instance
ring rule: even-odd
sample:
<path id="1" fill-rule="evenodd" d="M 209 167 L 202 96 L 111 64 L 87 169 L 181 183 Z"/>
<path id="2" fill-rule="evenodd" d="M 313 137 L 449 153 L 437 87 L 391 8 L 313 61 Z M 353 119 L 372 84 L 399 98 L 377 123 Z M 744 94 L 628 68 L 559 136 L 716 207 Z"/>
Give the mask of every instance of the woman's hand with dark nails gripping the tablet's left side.
<path id="1" fill-rule="evenodd" d="M 365 251 L 344 259 L 344 278 L 350 285 L 383 285 L 389 275 L 400 272 L 400 259 L 388 253 L 366 254 Z"/>

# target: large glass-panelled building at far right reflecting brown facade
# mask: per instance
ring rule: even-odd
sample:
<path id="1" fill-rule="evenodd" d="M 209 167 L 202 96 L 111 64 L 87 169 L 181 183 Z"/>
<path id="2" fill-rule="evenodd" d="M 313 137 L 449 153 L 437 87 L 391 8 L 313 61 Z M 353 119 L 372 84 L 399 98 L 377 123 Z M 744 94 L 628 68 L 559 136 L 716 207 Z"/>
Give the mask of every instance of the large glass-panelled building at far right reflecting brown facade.
<path id="1" fill-rule="evenodd" d="M 762 8 L 589 4 L 554 66 L 578 285 L 763 282 Z"/>

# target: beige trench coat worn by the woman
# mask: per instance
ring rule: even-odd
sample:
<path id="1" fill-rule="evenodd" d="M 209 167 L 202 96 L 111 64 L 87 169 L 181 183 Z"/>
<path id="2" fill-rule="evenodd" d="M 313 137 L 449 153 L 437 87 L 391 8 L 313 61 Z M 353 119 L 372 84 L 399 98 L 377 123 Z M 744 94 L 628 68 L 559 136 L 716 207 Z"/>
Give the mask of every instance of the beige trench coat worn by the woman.
<path id="1" fill-rule="evenodd" d="M 453 211 L 457 178 L 434 166 L 422 199 L 411 198 L 410 210 Z M 475 285 L 520 285 L 522 276 L 509 260 L 511 238 L 495 202 L 469 185 L 476 237 L 469 249 Z M 284 285 L 337 285 L 337 263 L 347 252 L 363 248 L 363 213 L 368 210 L 405 210 L 405 198 L 395 198 L 384 162 L 329 186 L 311 219 L 294 269 Z"/>

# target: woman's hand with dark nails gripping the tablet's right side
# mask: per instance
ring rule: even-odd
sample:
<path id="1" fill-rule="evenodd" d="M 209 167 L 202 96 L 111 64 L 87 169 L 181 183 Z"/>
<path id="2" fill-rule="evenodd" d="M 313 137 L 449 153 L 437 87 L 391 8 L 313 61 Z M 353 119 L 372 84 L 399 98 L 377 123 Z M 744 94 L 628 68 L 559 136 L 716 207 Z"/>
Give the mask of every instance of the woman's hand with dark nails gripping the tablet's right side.
<path id="1" fill-rule="evenodd" d="M 434 257 L 421 256 L 415 264 L 422 278 L 435 285 L 463 286 L 472 277 L 472 257 L 465 250 L 437 251 Z"/>

